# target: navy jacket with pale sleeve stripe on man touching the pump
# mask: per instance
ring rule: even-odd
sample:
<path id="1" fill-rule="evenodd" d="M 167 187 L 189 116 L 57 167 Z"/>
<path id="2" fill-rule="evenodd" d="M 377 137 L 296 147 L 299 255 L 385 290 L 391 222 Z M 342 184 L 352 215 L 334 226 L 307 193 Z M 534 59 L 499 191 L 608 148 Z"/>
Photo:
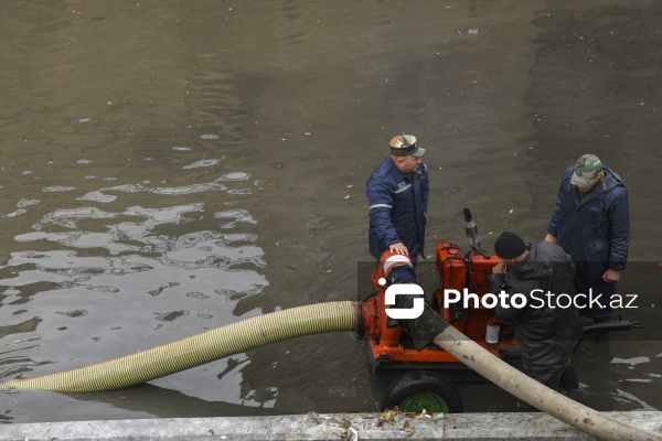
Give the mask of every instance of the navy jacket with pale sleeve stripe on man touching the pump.
<path id="1" fill-rule="evenodd" d="M 427 168 L 405 174 L 386 157 L 366 183 L 370 254 L 378 259 L 388 246 L 403 243 L 413 259 L 424 256 L 425 214 L 430 183 Z M 425 258 L 425 256 L 424 256 Z"/>

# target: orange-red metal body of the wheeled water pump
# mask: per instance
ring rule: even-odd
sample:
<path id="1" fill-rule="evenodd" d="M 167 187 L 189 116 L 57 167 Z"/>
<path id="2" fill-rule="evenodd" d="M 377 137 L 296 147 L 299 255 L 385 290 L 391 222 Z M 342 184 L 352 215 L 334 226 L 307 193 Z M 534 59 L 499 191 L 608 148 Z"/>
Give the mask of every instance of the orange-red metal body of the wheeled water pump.
<path id="1" fill-rule="evenodd" d="M 403 369 L 431 369 L 445 373 L 449 379 L 472 380 L 471 370 L 456 357 L 435 344 L 429 344 L 421 351 L 414 348 L 407 333 L 397 322 L 389 321 L 385 313 L 384 295 L 388 284 L 382 283 L 387 272 L 395 266 L 384 265 L 392 256 L 386 251 L 380 261 L 377 270 L 372 273 L 373 293 L 363 301 L 364 340 L 371 351 L 371 362 L 376 375 L 395 375 Z M 402 256 L 397 265 L 407 265 Z M 468 302 L 465 308 L 466 293 L 474 293 L 479 299 L 490 292 L 488 276 L 501 259 L 496 256 L 470 252 L 465 255 L 455 244 L 440 243 L 436 248 L 435 265 L 439 287 L 429 299 L 430 306 L 448 323 L 469 336 L 476 343 L 496 356 L 515 353 L 517 342 L 514 338 L 512 322 L 499 322 L 492 309 L 484 308 L 480 302 Z M 408 263 L 410 265 L 410 262 Z M 384 267 L 387 267 L 385 270 Z M 460 301 L 445 304 L 444 290 L 456 290 L 461 294 Z M 427 295 L 426 295 L 427 298 Z M 498 341 L 485 341 L 488 325 L 499 325 Z M 494 327 L 492 327 L 492 331 Z M 472 372 L 471 372 L 472 373 Z M 478 374 L 474 374 L 478 376 Z M 480 377 L 480 376 L 479 376 Z M 482 378 L 482 377 L 481 377 Z"/>

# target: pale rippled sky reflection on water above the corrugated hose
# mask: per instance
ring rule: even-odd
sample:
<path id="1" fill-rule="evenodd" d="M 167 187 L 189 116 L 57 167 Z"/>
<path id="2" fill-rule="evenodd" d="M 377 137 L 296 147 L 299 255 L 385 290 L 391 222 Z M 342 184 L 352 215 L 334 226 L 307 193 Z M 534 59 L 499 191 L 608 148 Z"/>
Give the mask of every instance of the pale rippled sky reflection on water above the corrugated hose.
<path id="1" fill-rule="evenodd" d="M 179 193 L 177 187 L 162 192 Z M 217 229 L 168 234 L 201 214 L 217 222 Z M 82 227 L 90 222 L 104 230 Z M 2 311 L 12 318 L 4 321 L 12 325 L 3 326 L 2 336 L 13 340 L 11 351 L 4 352 L 11 359 L 2 362 L 3 376 L 77 367 L 84 359 L 103 361 L 236 321 L 237 300 L 268 284 L 257 272 L 264 266 L 264 252 L 255 245 L 258 237 L 241 233 L 244 223 L 255 223 L 245 209 L 207 213 L 203 203 L 130 206 L 122 213 L 88 206 L 45 214 L 29 226 L 32 233 L 14 237 L 35 248 L 11 252 L 0 267 Z M 49 249 L 47 244 L 64 249 Z M 40 318 L 21 320 L 30 313 Z M 172 326 L 183 319 L 185 323 Z M 65 344 L 75 347 L 75 356 L 63 359 Z"/>

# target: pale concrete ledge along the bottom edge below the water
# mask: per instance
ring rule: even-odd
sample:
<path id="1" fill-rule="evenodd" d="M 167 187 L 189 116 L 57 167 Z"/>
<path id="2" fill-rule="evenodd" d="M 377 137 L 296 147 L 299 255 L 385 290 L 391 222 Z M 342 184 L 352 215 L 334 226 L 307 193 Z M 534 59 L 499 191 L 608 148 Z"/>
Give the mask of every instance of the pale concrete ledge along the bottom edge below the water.
<path id="1" fill-rule="evenodd" d="M 607 412 L 662 433 L 662 412 Z M 0 441 L 54 440 L 594 440 L 546 413 L 308 413 L 0 426 Z"/>

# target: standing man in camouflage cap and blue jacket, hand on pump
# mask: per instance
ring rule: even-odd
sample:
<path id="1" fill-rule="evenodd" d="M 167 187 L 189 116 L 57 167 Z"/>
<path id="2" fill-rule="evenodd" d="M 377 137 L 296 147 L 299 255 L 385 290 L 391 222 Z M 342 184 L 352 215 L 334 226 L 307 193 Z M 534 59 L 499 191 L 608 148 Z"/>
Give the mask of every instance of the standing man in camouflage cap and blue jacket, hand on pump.
<path id="1" fill-rule="evenodd" d="M 370 254 L 408 255 L 415 263 L 424 252 L 430 183 L 416 137 L 401 135 L 389 143 L 389 154 L 367 180 Z M 424 256 L 425 258 L 425 256 Z"/>

